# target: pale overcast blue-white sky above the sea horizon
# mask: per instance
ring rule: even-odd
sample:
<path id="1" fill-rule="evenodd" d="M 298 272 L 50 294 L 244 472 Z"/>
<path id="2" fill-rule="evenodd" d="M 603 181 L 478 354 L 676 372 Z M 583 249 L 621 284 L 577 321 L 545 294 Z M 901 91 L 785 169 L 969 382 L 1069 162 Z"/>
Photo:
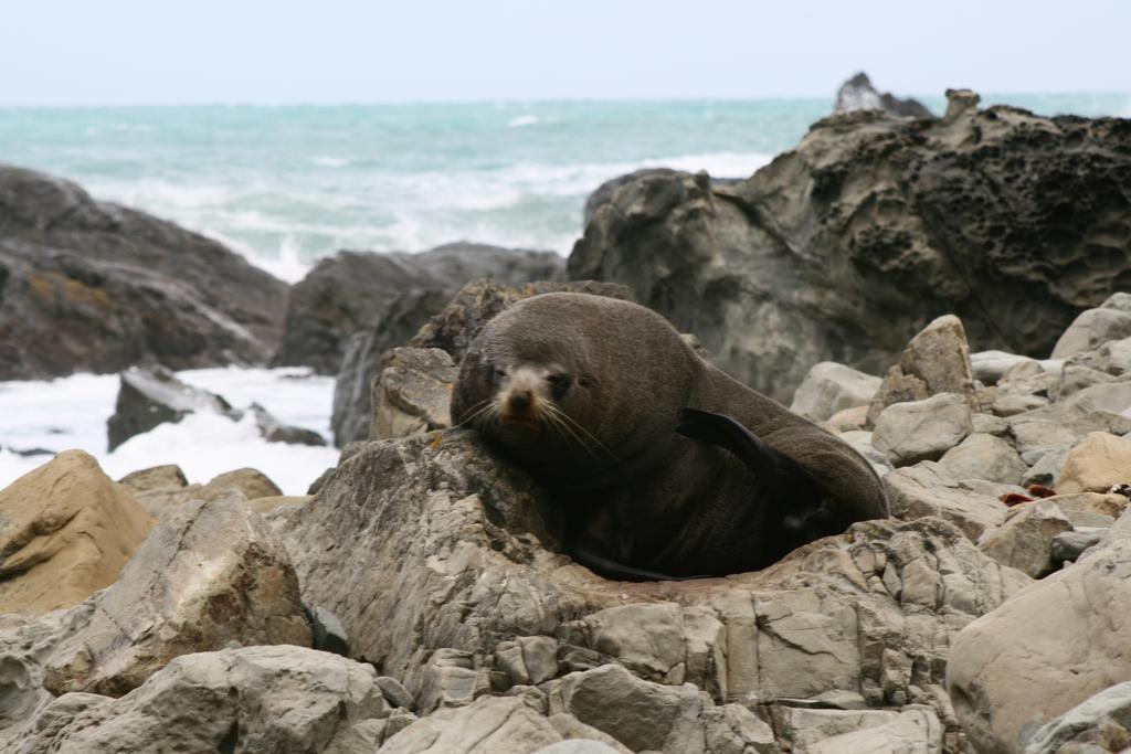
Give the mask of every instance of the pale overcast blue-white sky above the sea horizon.
<path id="1" fill-rule="evenodd" d="M 0 106 L 1131 90 L 1128 0 L 0 0 Z"/>

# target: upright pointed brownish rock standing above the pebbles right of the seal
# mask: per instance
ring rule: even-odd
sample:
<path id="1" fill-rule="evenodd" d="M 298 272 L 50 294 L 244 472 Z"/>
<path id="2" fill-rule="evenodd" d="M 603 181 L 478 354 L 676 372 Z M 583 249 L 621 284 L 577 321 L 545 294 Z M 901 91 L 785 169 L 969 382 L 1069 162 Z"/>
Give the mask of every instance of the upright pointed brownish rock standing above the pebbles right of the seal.
<path id="1" fill-rule="evenodd" d="M 910 339 L 872 398 L 867 421 L 875 423 L 880 413 L 893 404 L 924 400 L 942 392 L 961 396 L 970 411 L 978 410 L 966 330 L 952 314 L 932 321 Z"/>

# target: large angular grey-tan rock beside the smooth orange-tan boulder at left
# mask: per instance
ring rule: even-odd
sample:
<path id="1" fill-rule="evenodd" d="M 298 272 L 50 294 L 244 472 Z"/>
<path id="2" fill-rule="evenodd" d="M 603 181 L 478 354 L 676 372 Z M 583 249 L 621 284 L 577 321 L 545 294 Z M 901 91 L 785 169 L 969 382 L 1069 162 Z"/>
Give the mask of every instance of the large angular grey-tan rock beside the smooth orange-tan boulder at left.
<path id="1" fill-rule="evenodd" d="M 258 514 L 190 502 L 162 517 L 118 581 L 68 614 L 44 686 L 119 696 L 174 657 L 230 641 L 309 647 L 297 580 Z"/>

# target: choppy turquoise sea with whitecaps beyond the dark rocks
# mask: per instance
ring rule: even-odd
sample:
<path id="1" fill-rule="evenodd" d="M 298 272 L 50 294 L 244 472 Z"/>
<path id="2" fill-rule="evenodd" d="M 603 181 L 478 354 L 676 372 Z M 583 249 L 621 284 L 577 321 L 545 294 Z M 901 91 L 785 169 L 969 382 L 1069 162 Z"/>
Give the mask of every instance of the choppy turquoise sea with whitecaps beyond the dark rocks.
<path id="1" fill-rule="evenodd" d="M 923 102 L 935 112 L 942 97 Z M 1002 95 L 1131 118 L 1131 95 Z M 745 176 L 828 99 L 0 109 L 0 161 L 217 237 L 286 279 L 339 249 L 569 253 L 585 198 L 642 166 Z"/>

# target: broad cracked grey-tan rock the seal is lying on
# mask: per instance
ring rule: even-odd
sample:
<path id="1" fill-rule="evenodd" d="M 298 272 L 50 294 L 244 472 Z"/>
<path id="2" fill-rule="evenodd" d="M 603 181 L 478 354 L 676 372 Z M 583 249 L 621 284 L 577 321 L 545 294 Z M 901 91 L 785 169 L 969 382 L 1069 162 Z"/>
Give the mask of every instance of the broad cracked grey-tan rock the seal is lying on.
<path id="1" fill-rule="evenodd" d="M 282 532 L 307 604 L 422 713 L 615 664 L 681 699 L 681 683 L 714 704 L 843 691 L 931 704 L 953 730 L 946 636 L 1028 582 L 929 518 L 857 523 L 760 572 L 627 584 L 559 554 L 559 517 L 474 433 L 446 431 L 364 444 Z"/>

